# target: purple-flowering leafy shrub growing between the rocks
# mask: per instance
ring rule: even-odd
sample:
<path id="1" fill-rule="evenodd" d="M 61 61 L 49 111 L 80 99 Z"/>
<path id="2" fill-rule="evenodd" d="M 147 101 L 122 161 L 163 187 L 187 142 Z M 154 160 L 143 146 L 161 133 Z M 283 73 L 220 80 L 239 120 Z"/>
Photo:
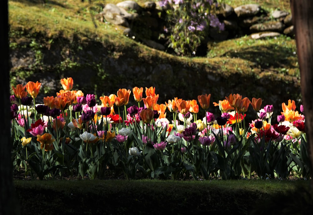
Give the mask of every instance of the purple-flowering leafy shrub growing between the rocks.
<path id="1" fill-rule="evenodd" d="M 209 28 L 224 30 L 224 24 L 215 16 L 216 1 L 162 0 L 159 4 L 166 10 L 165 34 L 169 47 L 178 55 L 195 55 L 208 37 Z"/>

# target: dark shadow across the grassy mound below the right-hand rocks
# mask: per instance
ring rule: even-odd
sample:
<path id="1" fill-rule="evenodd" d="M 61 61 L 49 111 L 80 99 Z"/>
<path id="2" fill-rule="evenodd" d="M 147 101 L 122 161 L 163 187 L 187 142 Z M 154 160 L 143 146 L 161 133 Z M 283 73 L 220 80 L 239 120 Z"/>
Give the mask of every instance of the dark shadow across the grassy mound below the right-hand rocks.
<path id="1" fill-rule="evenodd" d="M 241 58 L 249 60 L 262 69 L 270 67 L 283 68 L 285 65 L 290 66 L 289 56 L 294 55 L 292 48 L 281 47 L 277 45 L 255 45 L 239 52 L 233 50 L 226 52 L 223 56 L 232 58 Z M 294 67 L 295 68 L 295 67 Z"/>

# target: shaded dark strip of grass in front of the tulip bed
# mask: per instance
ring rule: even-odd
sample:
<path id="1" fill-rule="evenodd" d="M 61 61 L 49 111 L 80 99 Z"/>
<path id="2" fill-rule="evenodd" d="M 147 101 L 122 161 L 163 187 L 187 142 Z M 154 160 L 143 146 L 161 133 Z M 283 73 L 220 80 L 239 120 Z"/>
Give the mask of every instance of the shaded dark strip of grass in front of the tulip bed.
<path id="1" fill-rule="evenodd" d="M 262 180 L 18 180 L 14 184 L 25 215 L 34 211 L 36 214 L 253 214 L 271 196 L 279 195 L 282 199 L 297 194 L 296 198 L 303 199 L 309 188 L 308 181 Z M 39 201 L 34 203 L 34 199 Z M 294 211 L 303 212 L 310 205 L 300 208 L 308 202 L 295 206 L 295 202 L 291 203 L 293 199 L 289 196 L 288 202 L 276 205 L 276 210 L 271 212 L 285 207 L 296 214 Z"/>

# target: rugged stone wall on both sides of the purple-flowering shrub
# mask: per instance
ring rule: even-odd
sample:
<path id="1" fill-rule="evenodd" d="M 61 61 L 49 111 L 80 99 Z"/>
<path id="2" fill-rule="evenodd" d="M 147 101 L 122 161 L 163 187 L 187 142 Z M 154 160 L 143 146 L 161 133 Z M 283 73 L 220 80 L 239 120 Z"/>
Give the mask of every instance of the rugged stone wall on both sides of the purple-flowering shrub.
<path id="1" fill-rule="evenodd" d="M 96 18 L 118 26 L 130 38 L 152 48 L 165 50 L 166 41 L 159 39 L 164 30 L 165 16 L 165 8 L 160 8 L 158 3 L 145 2 L 138 5 L 135 1 L 127 0 L 116 5 L 106 4 Z M 294 37 L 292 17 L 287 11 L 275 10 L 269 13 L 258 4 L 245 4 L 236 8 L 222 4 L 217 16 L 224 23 L 225 30 L 219 32 L 210 28 L 209 35 L 212 40 L 225 40 L 244 35 L 251 35 L 254 39 L 280 34 Z"/>

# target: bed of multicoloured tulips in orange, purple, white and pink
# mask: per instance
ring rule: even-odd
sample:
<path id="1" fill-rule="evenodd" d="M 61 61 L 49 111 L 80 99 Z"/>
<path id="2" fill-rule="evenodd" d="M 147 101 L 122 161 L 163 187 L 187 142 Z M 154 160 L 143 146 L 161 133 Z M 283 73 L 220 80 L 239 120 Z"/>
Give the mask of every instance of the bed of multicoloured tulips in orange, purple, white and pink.
<path id="1" fill-rule="evenodd" d="M 25 177 L 102 179 L 109 171 L 126 179 L 310 178 L 303 107 L 299 113 L 294 101 L 273 118 L 274 107 L 261 108 L 261 98 L 230 94 L 213 102 L 221 111 L 214 116 L 211 94 L 158 104 L 154 87 L 146 97 L 134 87 L 97 101 L 73 90 L 72 78 L 61 84 L 43 103 L 36 103 L 38 81 L 12 87 L 13 165 Z M 138 105 L 129 105 L 131 93 Z M 248 123 L 250 106 L 256 119 Z"/>

